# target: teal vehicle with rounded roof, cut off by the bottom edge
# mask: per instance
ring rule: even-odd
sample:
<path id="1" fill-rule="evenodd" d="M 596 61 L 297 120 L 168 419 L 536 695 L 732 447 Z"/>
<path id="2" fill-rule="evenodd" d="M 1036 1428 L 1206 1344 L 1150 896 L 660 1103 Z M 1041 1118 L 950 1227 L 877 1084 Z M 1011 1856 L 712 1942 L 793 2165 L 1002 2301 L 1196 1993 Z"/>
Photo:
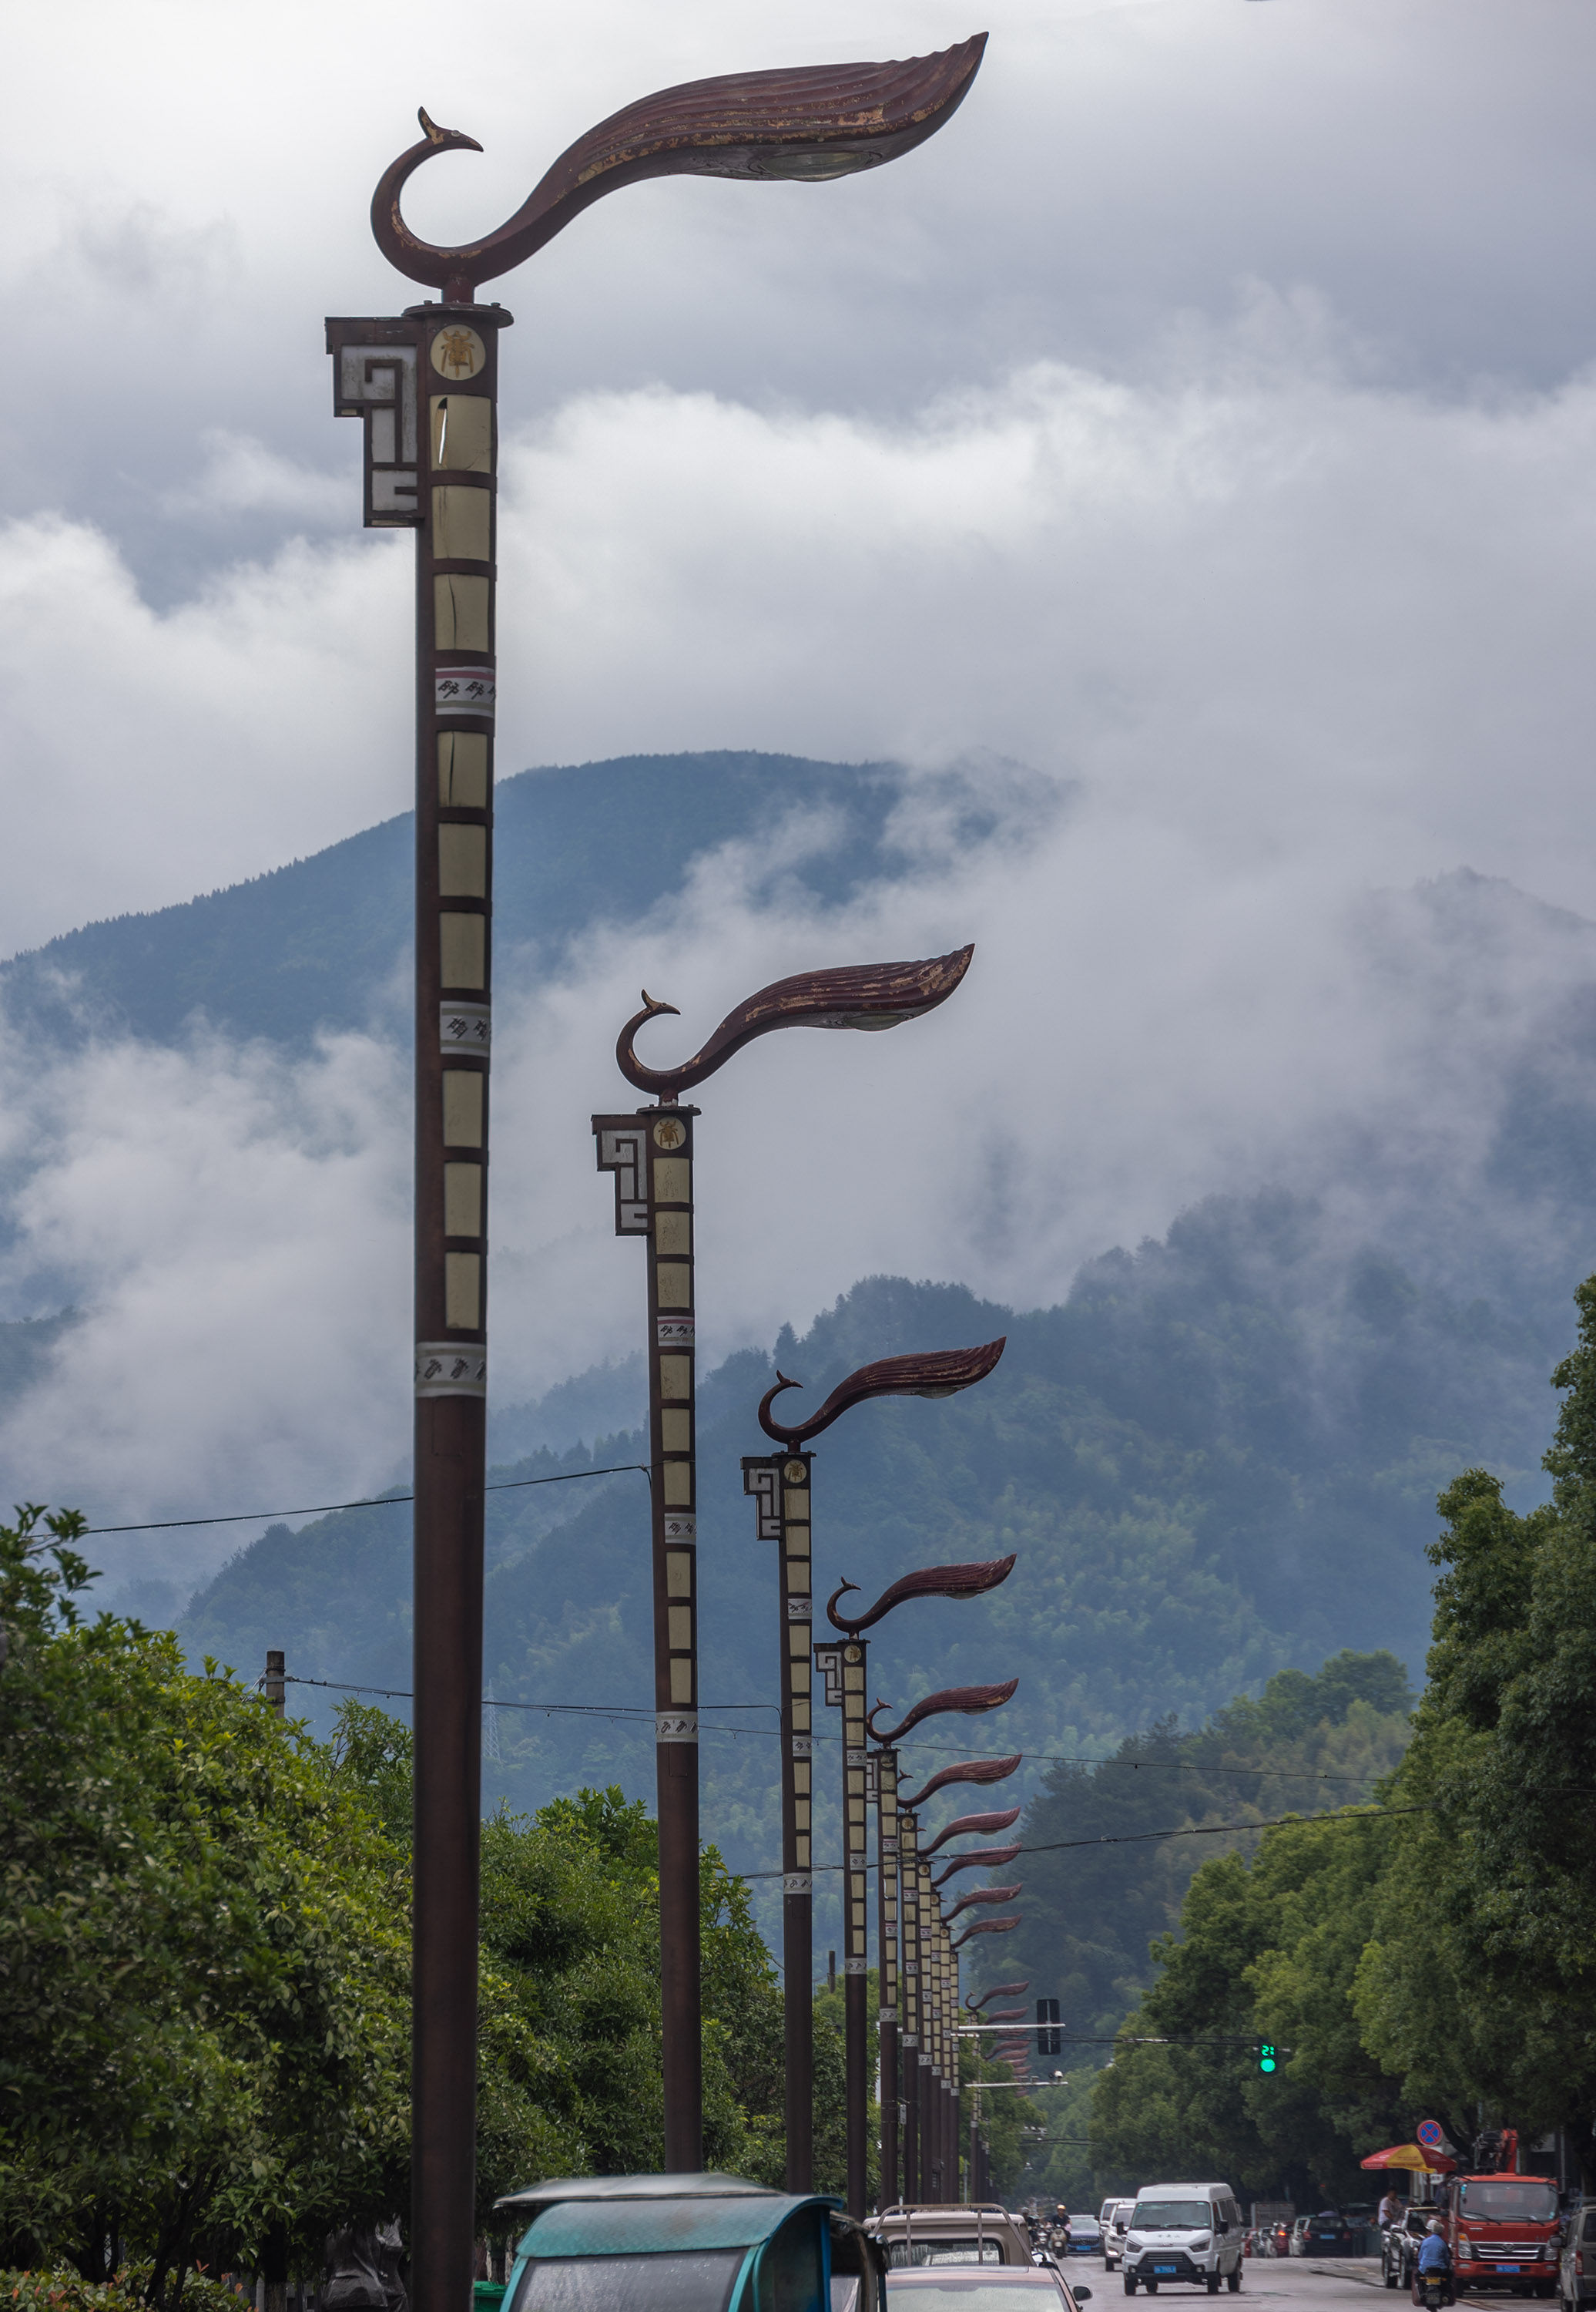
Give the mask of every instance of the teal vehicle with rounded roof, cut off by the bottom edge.
<path id="1" fill-rule="evenodd" d="M 714 2173 L 570 2176 L 497 2206 L 529 2217 L 504 2291 L 508 2312 L 882 2307 L 885 2257 L 815 2194 Z"/>

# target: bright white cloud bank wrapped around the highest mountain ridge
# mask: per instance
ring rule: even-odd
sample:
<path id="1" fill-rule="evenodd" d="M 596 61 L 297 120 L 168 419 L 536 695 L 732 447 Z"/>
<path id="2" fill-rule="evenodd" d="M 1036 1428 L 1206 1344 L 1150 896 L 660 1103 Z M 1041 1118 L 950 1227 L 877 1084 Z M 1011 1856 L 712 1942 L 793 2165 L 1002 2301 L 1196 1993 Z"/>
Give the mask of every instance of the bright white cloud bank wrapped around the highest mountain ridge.
<path id="1" fill-rule="evenodd" d="M 804 839 L 774 825 L 594 929 L 557 985 L 506 973 L 501 1399 L 637 1341 L 587 1117 L 631 1101 L 610 1052 L 640 985 L 681 1006 L 649 1031 L 674 1052 L 783 971 L 977 941 L 935 1017 L 769 1038 L 707 1087 L 711 1355 L 880 1269 L 1049 1302 L 1215 1188 L 1284 1177 L 1349 1237 L 1414 1237 L 1425 1181 L 1476 1209 L 1506 1077 L 1584 1001 L 1587 932 L 1478 890 L 1450 929 L 1423 897 L 1370 918 L 1370 892 L 1467 862 L 1584 906 L 1594 451 L 1589 379 L 1381 391 L 1284 305 L 1176 384 L 1032 365 L 901 425 L 598 393 L 515 430 L 506 768 L 898 756 L 915 842 L 820 918 L 771 879 Z M 404 541 L 296 543 L 155 613 L 104 534 L 35 520 L 0 536 L 0 592 L 16 946 L 409 800 Z M 949 832 L 972 786 L 1005 805 L 979 842 Z M 1578 1045 L 1564 1064 L 1582 1084 Z M 14 1487 L 120 1521 L 388 1477 L 395 1054 L 201 1038 L 0 1068 L 9 1311 L 90 1309 L 0 1438 Z M 1566 1200 L 1513 1228 L 1573 1283 Z"/>

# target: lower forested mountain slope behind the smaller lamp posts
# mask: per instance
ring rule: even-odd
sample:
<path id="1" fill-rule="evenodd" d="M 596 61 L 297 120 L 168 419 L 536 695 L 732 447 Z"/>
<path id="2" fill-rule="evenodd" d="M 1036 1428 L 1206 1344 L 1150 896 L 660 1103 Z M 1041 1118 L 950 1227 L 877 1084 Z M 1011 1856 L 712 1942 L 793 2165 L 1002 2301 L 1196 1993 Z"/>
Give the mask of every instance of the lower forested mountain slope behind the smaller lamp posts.
<path id="1" fill-rule="evenodd" d="M 1534 1484 L 1552 1420 L 1527 1327 L 1427 1292 L 1367 1248 L 1337 1265 L 1323 1214 L 1287 1195 L 1213 1200 L 1164 1242 L 1092 1262 L 1056 1309 L 859 1283 L 804 1339 L 788 1329 L 771 1355 L 725 1359 L 700 1392 L 704 1836 L 737 1868 L 776 1861 L 781 1632 L 739 1475 L 741 1454 L 769 1450 L 758 1399 L 776 1362 L 818 1401 L 871 1357 L 995 1334 L 1007 1350 L 982 1387 L 862 1406 L 820 1440 L 815 1586 L 848 1577 L 871 1598 L 915 1565 L 1019 1551 L 986 1600 L 896 1611 L 873 1632 L 868 1667 L 871 1692 L 894 1704 L 1019 1676 L 1002 1713 L 933 1722 L 905 1743 L 915 1773 L 1023 1748 L 1014 1796 L 1042 1794 L 1060 1759 L 1159 1722 L 1169 1736 L 1173 1718 L 1199 1725 L 1342 1648 L 1390 1653 L 1418 1676 L 1437 1489 L 1471 1461 Z M 617 1385 L 617 1371 L 596 1376 L 601 1392 Z M 564 1452 L 545 1443 L 494 1470 L 490 1806 L 531 1808 L 575 1783 L 651 1787 L 644 1480 L 621 1468 L 529 1482 L 642 1452 L 631 1429 Z M 282 1646 L 291 1674 L 376 1688 L 404 1711 L 409 1507 L 268 1531 L 194 1600 L 180 1635 L 192 1655 L 243 1667 Z M 314 1685 L 293 1695 L 319 1725 L 335 1702 Z M 1074 1785 L 1046 1789 L 1058 1820 Z M 1097 1822 L 1111 1789 L 1088 1796 Z M 1099 1995 L 1111 2000 L 1109 1986 Z"/>

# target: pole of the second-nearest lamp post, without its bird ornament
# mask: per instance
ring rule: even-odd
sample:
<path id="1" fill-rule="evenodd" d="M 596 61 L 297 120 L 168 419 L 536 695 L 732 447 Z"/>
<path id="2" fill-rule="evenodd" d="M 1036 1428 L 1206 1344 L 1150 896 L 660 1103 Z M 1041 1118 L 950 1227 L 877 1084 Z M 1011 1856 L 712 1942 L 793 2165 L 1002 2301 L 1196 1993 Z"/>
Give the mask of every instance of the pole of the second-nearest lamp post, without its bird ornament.
<path id="1" fill-rule="evenodd" d="M 661 2074 L 665 2171 L 704 2164 L 698 1912 L 698 1475 L 693 1394 L 695 1107 L 594 1117 L 614 1172 L 617 1237 L 649 1239 L 649 1466 L 654 1473 L 654 1776 L 661 1843 Z"/>

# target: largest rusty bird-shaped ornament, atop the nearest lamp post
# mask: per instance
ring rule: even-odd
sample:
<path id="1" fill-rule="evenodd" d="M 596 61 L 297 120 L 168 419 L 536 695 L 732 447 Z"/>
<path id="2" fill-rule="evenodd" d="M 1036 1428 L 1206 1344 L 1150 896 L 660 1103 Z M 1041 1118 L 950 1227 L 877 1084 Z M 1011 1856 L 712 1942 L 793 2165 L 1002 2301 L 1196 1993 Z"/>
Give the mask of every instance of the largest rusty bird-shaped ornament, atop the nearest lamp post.
<path id="1" fill-rule="evenodd" d="M 649 176 L 741 176 L 825 183 L 912 153 L 954 118 L 982 65 L 986 35 L 935 55 L 885 65 L 801 65 L 785 72 L 730 72 L 684 81 L 610 113 L 568 146 L 547 176 L 494 234 L 443 250 L 411 234 L 400 194 L 437 153 L 480 153 L 473 136 L 425 136 L 372 194 L 372 234 L 390 266 L 469 305 L 480 282 L 534 257 L 605 192 Z"/>

